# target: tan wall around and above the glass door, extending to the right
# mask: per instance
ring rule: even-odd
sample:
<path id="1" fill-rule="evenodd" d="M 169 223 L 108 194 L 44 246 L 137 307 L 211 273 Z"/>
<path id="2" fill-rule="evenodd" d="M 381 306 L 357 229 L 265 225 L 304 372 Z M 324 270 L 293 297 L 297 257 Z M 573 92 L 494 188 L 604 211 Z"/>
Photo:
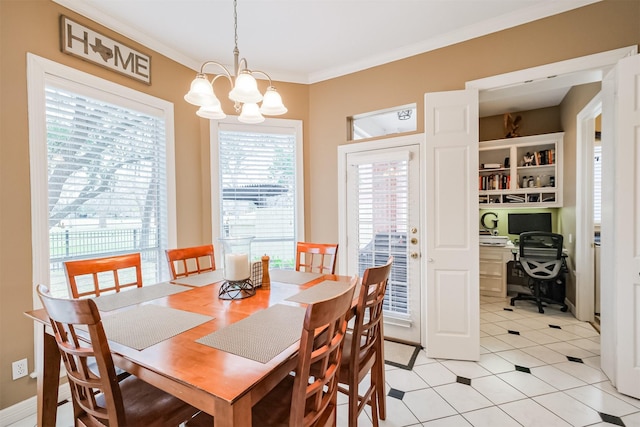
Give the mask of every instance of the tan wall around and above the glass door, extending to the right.
<path id="1" fill-rule="evenodd" d="M 338 240 L 336 150 L 349 143 L 347 117 L 414 102 L 418 117 L 423 117 L 425 92 L 464 89 L 470 80 L 637 45 L 638 22 L 640 2 L 605 0 L 312 85 L 309 127 L 314 163 L 305 184 L 311 219 L 307 237 Z M 418 131 L 423 129 L 419 120 Z"/>

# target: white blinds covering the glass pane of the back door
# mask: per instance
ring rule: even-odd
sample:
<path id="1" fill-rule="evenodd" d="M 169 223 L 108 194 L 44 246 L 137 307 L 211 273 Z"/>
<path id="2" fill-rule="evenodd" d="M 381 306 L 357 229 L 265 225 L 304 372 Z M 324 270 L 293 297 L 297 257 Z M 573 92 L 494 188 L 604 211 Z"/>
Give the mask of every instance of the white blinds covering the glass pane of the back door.
<path id="1" fill-rule="evenodd" d="M 400 158 L 402 157 L 402 158 Z M 394 262 L 387 285 L 384 310 L 409 314 L 407 281 L 407 230 L 409 223 L 408 153 L 387 160 L 369 156 L 369 163 L 353 165 L 357 170 L 358 274 L 384 265 L 390 255 Z"/>

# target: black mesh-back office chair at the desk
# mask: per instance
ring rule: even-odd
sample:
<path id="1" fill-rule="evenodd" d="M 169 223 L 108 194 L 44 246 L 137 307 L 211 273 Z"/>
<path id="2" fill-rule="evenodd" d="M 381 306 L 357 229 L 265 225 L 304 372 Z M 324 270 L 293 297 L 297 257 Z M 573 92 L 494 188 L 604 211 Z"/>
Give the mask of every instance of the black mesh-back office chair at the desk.
<path id="1" fill-rule="evenodd" d="M 515 305 L 516 301 L 530 300 L 536 302 L 540 313 L 544 313 L 542 303 L 560 304 L 560 310 L 567 311 L 564 298 L 558 301 L 551 297 L 557 293 L 554 292 L 555 287 L 564 286 L 562 240 L 561 234 L 542 231 L 520 234 L 520 268 L 529 277 L 531 293 L 518 293 L 511 298 L 511 305 Z"/>

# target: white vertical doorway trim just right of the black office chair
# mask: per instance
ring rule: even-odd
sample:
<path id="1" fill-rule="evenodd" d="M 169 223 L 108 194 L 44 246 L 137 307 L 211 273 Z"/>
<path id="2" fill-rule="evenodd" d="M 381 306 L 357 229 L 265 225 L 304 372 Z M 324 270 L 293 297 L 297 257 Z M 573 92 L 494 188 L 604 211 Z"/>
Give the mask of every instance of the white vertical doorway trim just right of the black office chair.
<path id="1" fill-rule="evenodd" d="M 576 310 L 578 320 L 593 322 L 593 141 L 595 118 L 602 113 L 598 93 L 576 117 Z"/>

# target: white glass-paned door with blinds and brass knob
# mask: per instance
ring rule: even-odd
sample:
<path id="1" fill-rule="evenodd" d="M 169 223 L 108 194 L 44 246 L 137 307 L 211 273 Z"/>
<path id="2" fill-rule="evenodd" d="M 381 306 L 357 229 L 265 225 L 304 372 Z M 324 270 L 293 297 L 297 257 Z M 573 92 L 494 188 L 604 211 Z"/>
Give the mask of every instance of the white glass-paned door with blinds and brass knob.
<path id="1" fill-rule="evenodd" d="M 386 140 L 392 148 L 346 154 L 348 274 L 394 257 L 384 301 L 384 334 L 420 343 L 419 136 Z M 404 145 L 411 144 L 411 145 Z"/>

